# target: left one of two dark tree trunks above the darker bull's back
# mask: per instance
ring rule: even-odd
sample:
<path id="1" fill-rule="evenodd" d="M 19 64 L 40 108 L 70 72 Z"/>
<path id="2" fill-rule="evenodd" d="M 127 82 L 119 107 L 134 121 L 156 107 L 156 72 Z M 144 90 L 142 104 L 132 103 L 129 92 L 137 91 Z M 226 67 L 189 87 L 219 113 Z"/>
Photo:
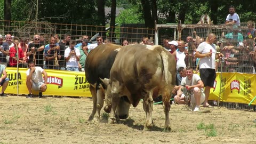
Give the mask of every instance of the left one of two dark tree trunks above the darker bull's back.
<path id="1" fill-rule="evenodd" d="M 102 26 L 101 27 L 101 33 L 100 35 L 102 37 L 106 37 L 106 23 L 105 23 L 105 1 L 104 0 L 98 0 L 97 1 L 97 6 L 98 6 L 98 19 L 99 19 L 99 24 Z"/>

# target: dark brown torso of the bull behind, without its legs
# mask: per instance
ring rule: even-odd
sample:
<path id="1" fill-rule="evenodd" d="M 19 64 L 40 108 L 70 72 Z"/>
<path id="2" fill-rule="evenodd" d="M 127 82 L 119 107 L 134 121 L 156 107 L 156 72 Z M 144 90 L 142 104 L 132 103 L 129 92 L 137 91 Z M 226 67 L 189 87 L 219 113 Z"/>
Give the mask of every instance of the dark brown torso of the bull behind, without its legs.
<path id="1" fill-rule="evenodd" d="M 91 50 L 85 61 L 85 76 L 89 83 L 95 84 L 100 78 L 109 78 L 110 69 L 122 46 L 101 44 Z"/>

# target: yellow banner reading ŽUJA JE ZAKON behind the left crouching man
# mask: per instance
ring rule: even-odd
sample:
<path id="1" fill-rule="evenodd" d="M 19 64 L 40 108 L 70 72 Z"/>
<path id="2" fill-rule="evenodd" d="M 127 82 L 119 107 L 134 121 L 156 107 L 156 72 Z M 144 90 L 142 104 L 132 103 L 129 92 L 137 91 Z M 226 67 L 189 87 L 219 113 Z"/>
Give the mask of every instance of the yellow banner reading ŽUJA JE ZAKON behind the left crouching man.
<path id="1" fill-rule="evenodd" d="M 19 94 L 28 94 L 26 86 L 26 71 L 25 68 L 19 68 L 17 76 L 17 68 L 6 68 L 7 76 L 9 77 L 9 85 L 5 93 L 17 94 L 17 79 L 19 85 Z M 47 90 L 43 95 L 60 95 L 60 96 L 77 96 L 91 97 L 89 83 L 86 81 L 84 72 L 65 71 L 65 70 L 50 70 L 45 69 L 47 73 Z M 33 94 L 38 94 L 38 91 L 33 91 Z"/>

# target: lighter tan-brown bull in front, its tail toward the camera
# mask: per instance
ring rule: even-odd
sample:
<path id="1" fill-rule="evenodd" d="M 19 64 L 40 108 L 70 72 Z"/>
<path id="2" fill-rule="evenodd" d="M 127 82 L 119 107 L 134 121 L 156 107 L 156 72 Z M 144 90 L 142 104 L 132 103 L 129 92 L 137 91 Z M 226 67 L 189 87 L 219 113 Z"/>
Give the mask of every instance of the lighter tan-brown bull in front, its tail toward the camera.
<path id="1" fill-rule="evenodd" d="M 116 56 L 110 71 L 110 79 L 103 81 L 108 85 L 105 111 L 111 109 L 111 123 L 119 120 L 115 112 L 116 107 L 122 95 L 126 95 L 133 107 L 143 99 L 143 109 L 147 117 L 145 127 L 151 126 L 153 98 L 162 94 L 165 128 L 170 130 L 170 98 L 175 84 L 175 73 L 175 58 L 162 46 L 124 46 Z"/>

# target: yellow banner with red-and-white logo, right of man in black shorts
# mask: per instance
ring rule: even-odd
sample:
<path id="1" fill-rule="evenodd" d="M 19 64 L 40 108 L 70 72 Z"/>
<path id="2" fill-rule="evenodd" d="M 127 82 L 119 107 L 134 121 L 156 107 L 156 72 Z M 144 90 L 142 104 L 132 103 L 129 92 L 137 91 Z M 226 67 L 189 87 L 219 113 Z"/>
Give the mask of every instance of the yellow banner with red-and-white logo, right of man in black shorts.
<path id="1" fill-rule="evenodd" d="M 221 76 L 217 73 L 209 100 L 218 100 L 220 95 L 223 102 L 250 103 L 256 95 L 255 89 L 252 89 L 255 83 L 254 74 L 222 73 Z M 256 105 L 256 101 L 252 105 Z"/>

